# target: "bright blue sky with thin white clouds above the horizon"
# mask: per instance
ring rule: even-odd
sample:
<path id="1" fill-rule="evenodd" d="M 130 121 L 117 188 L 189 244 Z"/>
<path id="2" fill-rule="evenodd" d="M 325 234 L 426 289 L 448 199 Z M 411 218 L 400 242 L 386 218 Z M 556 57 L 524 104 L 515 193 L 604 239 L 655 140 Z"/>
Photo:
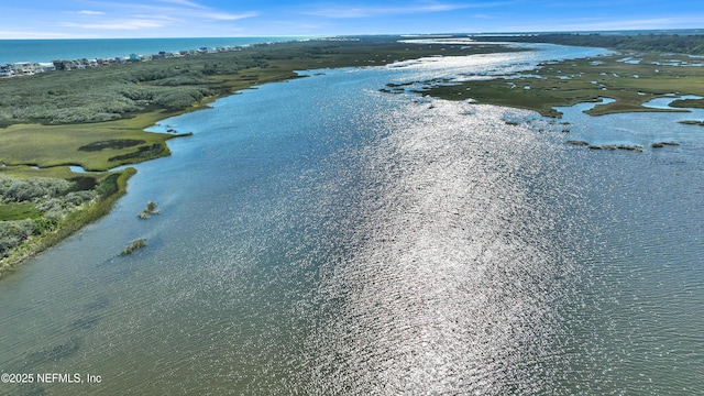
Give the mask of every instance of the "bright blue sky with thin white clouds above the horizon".
<path id="1" fill-rule="evenodd" d="M 698 0 L 30 0 L 0 38 L 212 37 L 704 28 Z"/>

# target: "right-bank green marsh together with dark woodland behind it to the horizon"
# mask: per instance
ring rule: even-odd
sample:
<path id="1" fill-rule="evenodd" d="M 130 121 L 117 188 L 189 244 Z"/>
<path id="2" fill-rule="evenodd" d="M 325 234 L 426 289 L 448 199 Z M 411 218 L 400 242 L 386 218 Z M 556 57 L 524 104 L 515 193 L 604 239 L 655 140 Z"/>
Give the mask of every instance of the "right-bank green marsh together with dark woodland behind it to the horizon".
<path id="1" fill-rule="evenodd" d="M 425 81 L 419 92 L 448 100 L 472 99 L 479 103 L 529 109 L 559 118 L 554 107 L 614 99 L 587 111 L 591 116 L 634 111 L 686 111 L 646 108 L 659 97 L 704 96 L 704 62 L 701 56 L 672 54 L 672 50 L 704 52 L 704 36 L 546 34 L 482 40 L 547 42 L 566 45 L 604 46 L 619 53 L 594 58 L 538 65 L 537 69 L 510 78 L 472 80 L 462 84 Z M 675 108 L 703 108 L 702 99 L 675 100 Z"/>

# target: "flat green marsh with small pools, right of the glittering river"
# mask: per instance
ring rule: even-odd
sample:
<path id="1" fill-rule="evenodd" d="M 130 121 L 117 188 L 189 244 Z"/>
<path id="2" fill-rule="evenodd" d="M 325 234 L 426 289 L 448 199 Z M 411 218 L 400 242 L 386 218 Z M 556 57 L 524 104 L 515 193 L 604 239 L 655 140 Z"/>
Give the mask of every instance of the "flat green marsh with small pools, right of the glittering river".
<path id="1" fill-rule="evenodd" d="M 600 101 L 602 98 L 615 101 L 597 105 L 586 113 L 602 116 L 635 111 L 686 111 L 646 108 L 642 103 L 671 95 L 704 96 L 704 67 L 663 65 L 674 55 L 629 56 L 639 58 L 640 63 L 619 62 L 626 57 L 624 54 L 571 59 L 542 64 L 510 80 L 496 78 L 452 86 L 429 84 L 429 88 L 422 94 L 447 100 L 474 99 L 479 103 L 535 110 L 553 118 L 561 117 L 554 107 Z M 530 86 L 530 89 L 524 89 L 524 86 Z M 674 103 L 675 107 L 678 105 L 703 107 L 704 101 L 683 100 Z"/>

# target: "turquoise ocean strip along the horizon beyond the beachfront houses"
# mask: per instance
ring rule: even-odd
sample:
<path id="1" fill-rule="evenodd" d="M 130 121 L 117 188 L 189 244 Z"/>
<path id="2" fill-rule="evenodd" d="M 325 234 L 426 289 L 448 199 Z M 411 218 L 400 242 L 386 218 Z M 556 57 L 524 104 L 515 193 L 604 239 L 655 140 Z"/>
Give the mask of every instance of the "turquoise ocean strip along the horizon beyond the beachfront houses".
<path id="1" fill-rule="evenodd" d="M 56 59 L 113 59 L 129 57 L 130 54 L 152 55 L 160 51 L 178 52 L 200 47 L 252 45 L 302 38 L 307 37 L 0 40 L 0 65 Z"/>

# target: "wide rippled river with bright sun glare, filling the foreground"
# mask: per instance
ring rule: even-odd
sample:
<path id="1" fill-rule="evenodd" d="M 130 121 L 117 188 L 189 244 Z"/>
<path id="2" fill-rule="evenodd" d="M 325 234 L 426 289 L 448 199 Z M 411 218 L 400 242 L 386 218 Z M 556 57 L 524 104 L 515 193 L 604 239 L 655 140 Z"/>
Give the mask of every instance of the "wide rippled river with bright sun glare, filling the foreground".
<path id="1" fill-rule="evenodd" d="M 704 139 L 676 123 L 704 114 L 576 106 L 565 136 L 380 91 L 596 53 L 310 72 L 164 120 L 194 135 L 0 280 L 0 370 L 101 382 L 0 393 L 704 393 Z"/>

